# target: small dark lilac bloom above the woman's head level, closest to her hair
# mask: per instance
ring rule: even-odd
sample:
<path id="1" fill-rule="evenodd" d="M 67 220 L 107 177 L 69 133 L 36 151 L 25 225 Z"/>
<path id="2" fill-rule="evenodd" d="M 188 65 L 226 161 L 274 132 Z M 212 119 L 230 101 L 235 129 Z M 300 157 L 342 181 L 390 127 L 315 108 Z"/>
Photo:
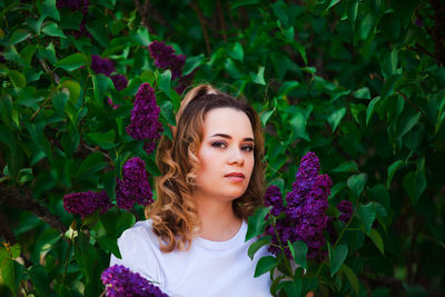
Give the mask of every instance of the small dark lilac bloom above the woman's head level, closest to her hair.
<path id="1" fill-rule="evenodd" d="M 181 76 L 182 67 L 186 63 L 185 55 L 176 55 L 171 46 L 162 41 L 154 41 L 148 46 L 151 57 L 155 59 L 155 66 L 161 69 L 171 70 L 171 79 Z"/>

